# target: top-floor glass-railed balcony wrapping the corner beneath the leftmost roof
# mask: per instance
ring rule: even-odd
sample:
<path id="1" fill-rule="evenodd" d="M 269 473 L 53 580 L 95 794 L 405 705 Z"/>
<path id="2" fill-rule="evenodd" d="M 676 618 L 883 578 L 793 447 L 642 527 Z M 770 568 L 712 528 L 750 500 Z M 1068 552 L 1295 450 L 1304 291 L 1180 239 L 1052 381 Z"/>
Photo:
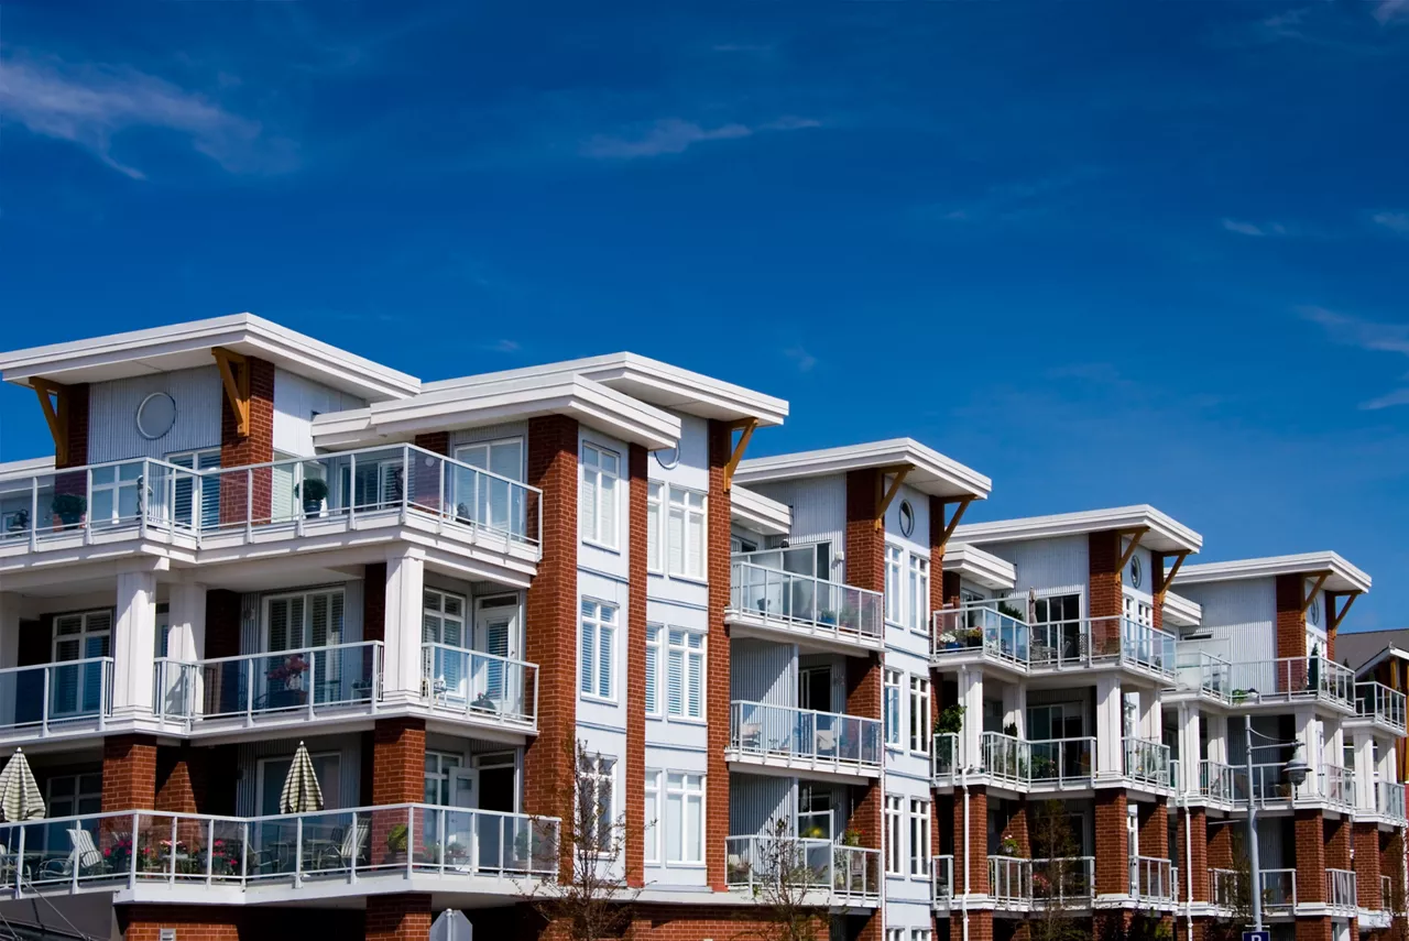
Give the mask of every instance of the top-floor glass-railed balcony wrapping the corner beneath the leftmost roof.
<path id="1" fill-rule="evenodd" d="M 255 542 L 409 525 L 537 562 L 541 492 L 413 445 L 192 470 L 149 458 L 0 483 L 0 559 L 123 542 L 217 558 Z"/>

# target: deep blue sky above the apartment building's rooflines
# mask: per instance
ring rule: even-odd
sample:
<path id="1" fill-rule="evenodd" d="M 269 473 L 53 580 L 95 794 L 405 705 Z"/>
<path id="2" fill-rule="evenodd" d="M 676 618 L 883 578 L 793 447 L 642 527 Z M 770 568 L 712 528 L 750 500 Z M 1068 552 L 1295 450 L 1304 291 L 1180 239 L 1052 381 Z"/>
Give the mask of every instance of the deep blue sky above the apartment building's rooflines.
<path id="1" fill-rule="evenodd" d="M 1409 624 L 1409 0 L 604 6 L 6 3 L 3 345 L 628 348 Z"/>

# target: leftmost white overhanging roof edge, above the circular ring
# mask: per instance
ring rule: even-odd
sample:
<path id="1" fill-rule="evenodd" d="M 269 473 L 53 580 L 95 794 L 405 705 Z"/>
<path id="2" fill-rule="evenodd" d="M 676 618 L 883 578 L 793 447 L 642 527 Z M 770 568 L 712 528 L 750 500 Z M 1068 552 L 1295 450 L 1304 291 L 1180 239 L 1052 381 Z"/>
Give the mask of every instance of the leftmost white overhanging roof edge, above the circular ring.
<path id="1" fill-rule="evenodd" d="M 416 376 L 254 314 L 193 320 L 0 354 L 0 376 L 21 386 L 28 386 L 35 378 L 59 383 L 104 382 L 213 365 L 211 347 L 268 359 L 371 401 L 410 396 L 421 385 Z"/>

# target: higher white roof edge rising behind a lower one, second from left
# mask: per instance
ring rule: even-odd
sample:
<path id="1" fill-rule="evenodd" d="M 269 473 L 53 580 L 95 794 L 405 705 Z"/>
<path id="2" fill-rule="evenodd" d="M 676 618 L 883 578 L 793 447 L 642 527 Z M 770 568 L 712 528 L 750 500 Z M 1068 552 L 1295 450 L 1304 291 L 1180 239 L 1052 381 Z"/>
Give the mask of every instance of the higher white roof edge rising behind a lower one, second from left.
<path id="1" fill-rule="evenodd" d="M 424 392 L 465 389 L 513 379 L 554 375 L 578 375 L 652 406 L 672 409 L 704 418 L 741 421 L 752 418 L 761 425 L 779 425 L 788 417 L 788 401 L 735 386 L 713 376 L 681 369 L 658 359 L 630 352 L 588 356 L 542 366 L 526 366 L 479 376 L 428 382 Z"/>

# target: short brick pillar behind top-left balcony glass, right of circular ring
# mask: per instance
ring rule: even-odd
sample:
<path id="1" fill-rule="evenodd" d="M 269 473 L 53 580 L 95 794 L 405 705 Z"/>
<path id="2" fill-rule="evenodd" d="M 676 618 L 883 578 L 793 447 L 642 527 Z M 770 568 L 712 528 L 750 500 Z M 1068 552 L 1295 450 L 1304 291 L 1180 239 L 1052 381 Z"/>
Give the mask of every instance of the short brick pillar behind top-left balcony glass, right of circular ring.
<path id="1" fill-rule="evenodd" d="M 224 390 L 220 394 L 220 466 L 242 468 L 273 461 L 273 363 L 252 356 L 234 369 L 249 370 L 249 434 L 241 435 L 235 410 Z M 252 490 L 251 490 L 252 483 Z M 220 476 L 220 523 L 231 525 L 269 521 L 273 499 L 273 473 L 269 468 Z"/>

